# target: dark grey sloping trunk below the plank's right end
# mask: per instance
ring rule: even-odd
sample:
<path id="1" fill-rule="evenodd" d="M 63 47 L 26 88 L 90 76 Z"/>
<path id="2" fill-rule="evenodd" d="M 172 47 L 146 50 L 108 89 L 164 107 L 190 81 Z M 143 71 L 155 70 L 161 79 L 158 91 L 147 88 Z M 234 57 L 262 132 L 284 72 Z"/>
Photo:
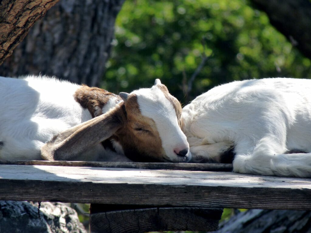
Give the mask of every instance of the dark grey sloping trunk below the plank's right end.
<path id="1" fill-rule="evenodd" d="M 311 233 L 311 211 L 248 210 L 222 222 L 213 233 Z"/>

